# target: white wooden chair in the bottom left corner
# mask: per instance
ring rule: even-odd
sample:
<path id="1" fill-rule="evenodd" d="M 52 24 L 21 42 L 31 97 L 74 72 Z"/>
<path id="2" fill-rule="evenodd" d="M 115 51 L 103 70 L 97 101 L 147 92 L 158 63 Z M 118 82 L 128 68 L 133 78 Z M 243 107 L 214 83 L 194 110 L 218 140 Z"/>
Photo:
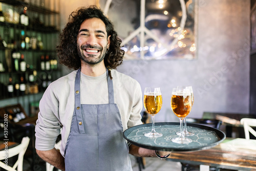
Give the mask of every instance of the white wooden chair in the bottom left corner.
<path id="1" fill-rule="evenodd" d="M 17 167 L 17 171 L 22 171 L 23 170 L 23 158 L 25 155 L 25 152 L 27 150 L 27 147 L 29 145 L 30 138 L 29 137 L 24 137 L 22 139 L 22 143 L 20 143 L 17 146 L 14 146 L 12 148 L 8 148 L 8 151 L 6 152 L 5 150 L 0 151 L 0 160 L 6 160 L 8 161 L 8 158 L 11 158 L 13 156 L 18 155 L 18 159 L 15 162 L 15 164 L 11 167 L 8 164 L 1 162 L 0 161 L 0 167 L 10 170 L 10 171 L 15 171 Z"/>

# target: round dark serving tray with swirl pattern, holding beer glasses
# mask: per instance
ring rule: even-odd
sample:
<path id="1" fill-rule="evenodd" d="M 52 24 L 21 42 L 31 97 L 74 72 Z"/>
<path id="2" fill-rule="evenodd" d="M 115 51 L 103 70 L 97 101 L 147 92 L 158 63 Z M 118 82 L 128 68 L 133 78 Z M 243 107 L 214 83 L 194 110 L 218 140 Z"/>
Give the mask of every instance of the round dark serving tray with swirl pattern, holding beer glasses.
<path id="1" fill-rule="evenodd" d="M 208 149 L 218 145 L 226 138 L 226 135 L 220 130 L 194 123 L 187 123 L 187 131 L 195 133 L 194 136 L 188 137 L 193 140 L 188 144 L 172 142 L 172 138 L 178 137 L 176 133 L 180 131 L 180 123 L 178 122 L 155 123 L 155 130 L 163 134 L 162 137 L 145 137 L 144 134 L 151 132 L 151 130 L 152 123 L 141 124 L 125 130 L 123 137 L 139 147 L 169 152 L 189 152 Z"/>

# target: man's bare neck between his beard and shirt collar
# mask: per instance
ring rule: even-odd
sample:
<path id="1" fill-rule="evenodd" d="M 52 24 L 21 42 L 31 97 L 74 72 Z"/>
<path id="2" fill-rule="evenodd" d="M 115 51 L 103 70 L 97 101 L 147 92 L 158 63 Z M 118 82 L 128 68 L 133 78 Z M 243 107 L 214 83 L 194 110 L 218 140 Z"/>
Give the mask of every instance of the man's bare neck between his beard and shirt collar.
<path id="1" fill-rule="evenodd" d="M 97 65 L 89 65 L 88 63 L 82 63 L 81 72 L 88 76 L 97 77 L 104 74 L 104 72 L 106 72 L 106 68 L 104 62 L 100 62 Z"/>

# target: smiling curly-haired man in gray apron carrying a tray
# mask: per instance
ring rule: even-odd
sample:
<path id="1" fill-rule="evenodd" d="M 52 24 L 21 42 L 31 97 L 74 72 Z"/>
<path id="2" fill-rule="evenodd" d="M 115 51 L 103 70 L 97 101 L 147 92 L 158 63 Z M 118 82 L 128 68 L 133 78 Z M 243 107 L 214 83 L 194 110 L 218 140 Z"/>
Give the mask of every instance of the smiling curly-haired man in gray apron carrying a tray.
<path id="1" fill-rule="evenodd" d="M 37 154 L 62 170 L 132 170 L 128 153 L 165 158 L 122 137 L 141 124 L 139 83 L 117 72 L 124 51 L 112 23 L 95 6 L 71 13 L 60 34 L 59 62 L 75 71 L 52 82 L 36 122 Z M 108 68 L 108 69 L 106 69 Z M 61 148 L 54 148 L 61 131 Z M 162 156 L 162 157 L 161 157 Z"/>

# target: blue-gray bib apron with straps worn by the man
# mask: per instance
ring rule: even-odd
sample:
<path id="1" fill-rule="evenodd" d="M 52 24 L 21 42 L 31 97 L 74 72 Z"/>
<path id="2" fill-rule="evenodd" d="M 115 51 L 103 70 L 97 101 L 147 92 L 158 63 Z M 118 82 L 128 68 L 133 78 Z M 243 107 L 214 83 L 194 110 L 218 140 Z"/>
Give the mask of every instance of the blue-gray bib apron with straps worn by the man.
<path id="1" fill-rule="evenodd" d="M 132 170 L 108 70 L 108 104 L 80 104 L 80 70 L 75 79 L 75 109 L 65 148 L 66 170 Z"/>

